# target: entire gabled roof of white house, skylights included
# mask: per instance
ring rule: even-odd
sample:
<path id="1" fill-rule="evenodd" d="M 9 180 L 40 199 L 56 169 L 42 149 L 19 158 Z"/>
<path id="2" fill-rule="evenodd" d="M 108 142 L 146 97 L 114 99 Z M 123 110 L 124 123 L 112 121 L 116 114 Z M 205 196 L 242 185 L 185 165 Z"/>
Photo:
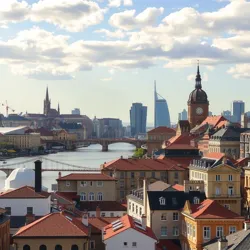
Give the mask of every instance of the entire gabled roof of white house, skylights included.
<path id="1" fill-rule="evenodd" d="M 139 221 L 135 221 L 129 215 L 124 215 L 123 217 L 104 227 L 104 240 L 107 240 L 131 228 L 157 241 L 157 238 L 151 228 L 143 227 Z"/>

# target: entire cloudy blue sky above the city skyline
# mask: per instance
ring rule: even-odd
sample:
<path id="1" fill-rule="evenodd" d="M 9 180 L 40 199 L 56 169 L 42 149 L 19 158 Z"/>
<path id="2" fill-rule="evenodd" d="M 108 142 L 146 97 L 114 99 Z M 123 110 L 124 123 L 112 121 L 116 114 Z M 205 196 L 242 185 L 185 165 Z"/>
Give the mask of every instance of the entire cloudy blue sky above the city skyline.
<path id="1" fill-rule="evenodd" d="M 15 113 L 42 113 L 48 86 L 61 113 L 129 122 L 141 102 L 152 123 L 156 80 L 176 122 L 197 60 L 213 114 L 250 110 L 250 1 L 0 0 L 0 102 Z"/>

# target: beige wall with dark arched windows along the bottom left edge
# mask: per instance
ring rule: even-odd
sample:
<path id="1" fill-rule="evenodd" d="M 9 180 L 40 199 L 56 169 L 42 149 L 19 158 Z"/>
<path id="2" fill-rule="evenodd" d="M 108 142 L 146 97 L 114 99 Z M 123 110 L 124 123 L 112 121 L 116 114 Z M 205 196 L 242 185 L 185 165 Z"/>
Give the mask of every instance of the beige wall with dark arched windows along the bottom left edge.
<path id="1" fill-rule="evenodd" d="M 88 239 L 87 238 L 43 238 L 42 240 L 37 238 L 26 238 L 14 239 L 14 245 L 16 245 L 16 250 L 23 250 L 25 245 L 30 246 L 31 250 L 40 250 L 41 245 L 45 245 L 47 250 L 55 250 L 56 245 L 61 245 L 62 249 L 78 249 L 78 250 L 88 250 Z M 78 248 L 72 248 L 73 245 L 78 246 Z"/>

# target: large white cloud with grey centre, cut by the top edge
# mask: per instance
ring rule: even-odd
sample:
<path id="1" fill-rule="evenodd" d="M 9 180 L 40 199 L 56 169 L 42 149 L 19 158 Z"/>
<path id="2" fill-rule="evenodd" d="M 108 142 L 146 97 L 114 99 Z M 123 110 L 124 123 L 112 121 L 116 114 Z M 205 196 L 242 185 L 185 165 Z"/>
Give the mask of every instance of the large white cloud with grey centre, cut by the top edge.
<path id="1" fill-rule="evenodd" d="M 32 5 L 30 18 L 46 21 L 71 32 L 99 24 L 106 10 L 90 0 L 40 0 Z"/>

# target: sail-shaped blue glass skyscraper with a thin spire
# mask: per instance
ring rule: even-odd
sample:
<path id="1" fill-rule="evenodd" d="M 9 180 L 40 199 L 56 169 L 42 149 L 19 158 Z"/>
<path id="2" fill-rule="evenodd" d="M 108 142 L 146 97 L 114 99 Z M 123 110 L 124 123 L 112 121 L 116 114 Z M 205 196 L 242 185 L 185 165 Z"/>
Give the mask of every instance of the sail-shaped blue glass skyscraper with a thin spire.
<path id="1" fill-rule="evenodd" d="M 166 99 L 159 95 L 156 91 L 156 81 L 155 81 L 155 128 L 159 126 L 171 126 L 170 115 L 168 110 L 168 104 Z"/>

